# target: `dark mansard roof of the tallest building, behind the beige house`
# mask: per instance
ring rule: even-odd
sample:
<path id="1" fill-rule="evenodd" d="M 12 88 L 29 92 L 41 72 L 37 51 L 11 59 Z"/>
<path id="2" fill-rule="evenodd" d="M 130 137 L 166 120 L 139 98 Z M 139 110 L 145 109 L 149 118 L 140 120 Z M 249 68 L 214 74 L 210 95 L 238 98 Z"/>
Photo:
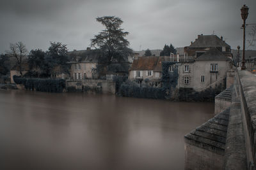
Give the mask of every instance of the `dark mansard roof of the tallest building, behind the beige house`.
<path id="1" fill-rule="evenodd" d="M 190 47 L 216 47 L 216 46 L 228 46 L 225 41 L 221 40 L 216 35 L 198 35 L 198 38 L 189 46 Z"/>

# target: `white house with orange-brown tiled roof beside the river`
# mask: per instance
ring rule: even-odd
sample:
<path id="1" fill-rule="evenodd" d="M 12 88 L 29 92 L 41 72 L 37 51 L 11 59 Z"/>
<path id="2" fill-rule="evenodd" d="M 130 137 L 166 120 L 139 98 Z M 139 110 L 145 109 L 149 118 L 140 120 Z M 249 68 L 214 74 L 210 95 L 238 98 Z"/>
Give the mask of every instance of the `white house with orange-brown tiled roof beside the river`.
<path id="1" fill-rule="evenodd" d="M 129 80 L 136 81 L 140 85 L 149 81 L 151 86 L 161 87 L 162 62 L 167 60 L 170 60 L 169 56 L 138 57 L 129 69 Z"/>

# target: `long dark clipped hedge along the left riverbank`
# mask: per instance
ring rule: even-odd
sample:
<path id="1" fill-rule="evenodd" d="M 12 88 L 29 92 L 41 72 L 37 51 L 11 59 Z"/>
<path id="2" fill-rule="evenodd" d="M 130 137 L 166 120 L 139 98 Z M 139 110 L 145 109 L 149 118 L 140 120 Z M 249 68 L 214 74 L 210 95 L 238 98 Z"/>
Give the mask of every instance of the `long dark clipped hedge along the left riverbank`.
<path id="1" fill-rule="evenodd" d="M 17 84 L 23 84 L 26 89 L 35 89 L 40 92 L 63 92 L 63 89 L 65 89 L 65 80 L 63 79 L 21 78 L 13 76 L 13 80 Z"/>

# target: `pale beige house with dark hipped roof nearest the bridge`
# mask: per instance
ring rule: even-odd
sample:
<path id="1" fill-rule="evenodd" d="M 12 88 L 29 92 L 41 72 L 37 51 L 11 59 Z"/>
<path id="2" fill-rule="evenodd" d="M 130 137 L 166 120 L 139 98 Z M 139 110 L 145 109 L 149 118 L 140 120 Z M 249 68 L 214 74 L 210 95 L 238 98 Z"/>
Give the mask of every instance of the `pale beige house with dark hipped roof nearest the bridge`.
<path id="1" fill-rule="evenodd" d="M 195 60 L 180 63 L 178 86 L 196 91 L 218 87 L 223 85 L 231 67 L 231 60 L 218 48 L 211 47 Z"/>

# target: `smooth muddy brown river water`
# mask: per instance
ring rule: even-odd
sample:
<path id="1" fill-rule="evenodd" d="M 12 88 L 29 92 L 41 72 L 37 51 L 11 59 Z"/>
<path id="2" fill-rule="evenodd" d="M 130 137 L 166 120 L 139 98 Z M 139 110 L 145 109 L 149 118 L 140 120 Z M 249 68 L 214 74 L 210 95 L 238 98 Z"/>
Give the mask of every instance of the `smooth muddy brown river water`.
<path id="1" fill-rule="evenodd" d="M 184 169 L 214 103 L 0 90 L 0 169 Z"/>

